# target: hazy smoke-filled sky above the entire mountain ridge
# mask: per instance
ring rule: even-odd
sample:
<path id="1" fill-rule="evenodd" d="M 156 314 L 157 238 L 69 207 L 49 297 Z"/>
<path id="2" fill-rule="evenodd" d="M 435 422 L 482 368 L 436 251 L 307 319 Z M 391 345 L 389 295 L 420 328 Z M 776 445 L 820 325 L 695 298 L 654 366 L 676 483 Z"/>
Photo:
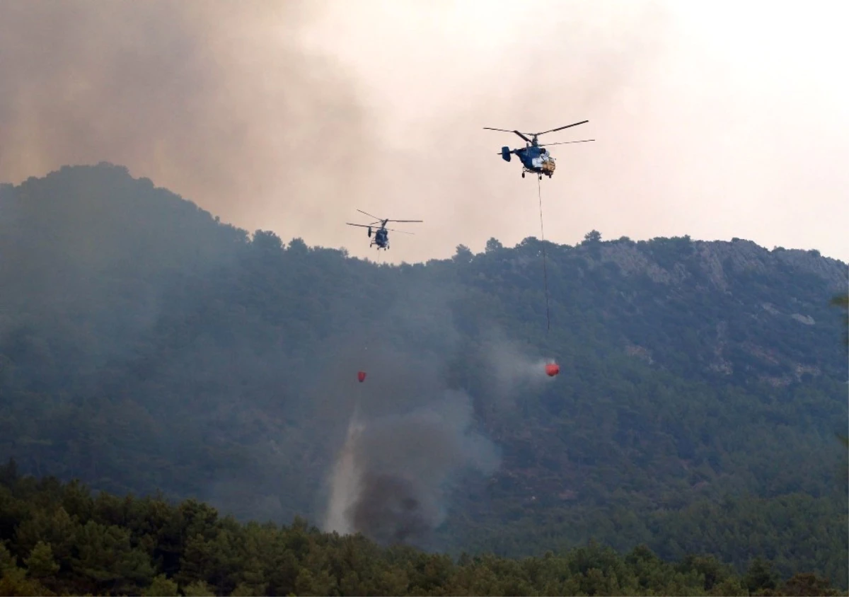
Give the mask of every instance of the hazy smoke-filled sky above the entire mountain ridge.
<path id="1" fill-rule="evenodd" d="M 539 234 L 498 155 L 545 130 L 546 238 L 849 259 L 849 8 L 711 0 L 0 0 L 0 181 L 111 161 L 254 230 L 386 261 Z"/>

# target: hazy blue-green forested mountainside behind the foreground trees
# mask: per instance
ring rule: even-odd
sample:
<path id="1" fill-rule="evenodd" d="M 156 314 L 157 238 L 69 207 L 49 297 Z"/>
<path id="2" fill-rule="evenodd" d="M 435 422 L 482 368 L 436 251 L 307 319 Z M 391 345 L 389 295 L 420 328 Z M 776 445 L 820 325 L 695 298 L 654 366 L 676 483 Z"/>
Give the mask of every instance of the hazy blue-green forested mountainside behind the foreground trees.
<path id="1" fill-rule="evenodd" d="M 377 506 L 345 524 L 374 538 L 510 556 L 646 543 L 849 586 L 830 304 L 846 264 L 593 232 L 547 244 L 547 333 L 540 252 L 492 239 L 377 265 L 247 234 L 106 164 L 4 185 L 0 457 L 322 525 L 356 413 Z"/>

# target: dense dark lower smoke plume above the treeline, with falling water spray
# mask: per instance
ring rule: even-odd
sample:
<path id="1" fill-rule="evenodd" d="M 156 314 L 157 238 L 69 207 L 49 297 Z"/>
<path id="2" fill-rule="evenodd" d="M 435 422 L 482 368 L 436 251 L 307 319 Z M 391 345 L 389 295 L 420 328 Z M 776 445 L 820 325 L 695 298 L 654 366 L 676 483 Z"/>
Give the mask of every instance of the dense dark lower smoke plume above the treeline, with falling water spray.
<path id="1" fill-rule="evenodd" d="M 445 519 L 458 474 L 498 467 L 497 448 L 472 424 L 471 401 L 458 391 L 408 414 L 369 421 L 355 414 L 331 477 L 325 529 L 380 543 L 426 542 Z"/>

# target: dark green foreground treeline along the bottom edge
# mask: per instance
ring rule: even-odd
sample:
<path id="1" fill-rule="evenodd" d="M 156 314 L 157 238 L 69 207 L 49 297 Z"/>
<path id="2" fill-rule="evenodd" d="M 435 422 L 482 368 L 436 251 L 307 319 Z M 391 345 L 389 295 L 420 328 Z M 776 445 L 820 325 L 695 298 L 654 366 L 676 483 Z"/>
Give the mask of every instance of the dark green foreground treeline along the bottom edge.
<path id="1" fill-rule="evenodd" d="M 0 596 L 396 597 L 397 595 L 717 595 L 837 597 L 814 574 L 780 579 L 766 560 L 744 575 L 711 556 L 668 563 L 645 547 L 590 543 L 523 560 L 381 549 L 362 536 L 221 517 L 195 500 L 92 495 L 78 482 L 0 468 Z"/>

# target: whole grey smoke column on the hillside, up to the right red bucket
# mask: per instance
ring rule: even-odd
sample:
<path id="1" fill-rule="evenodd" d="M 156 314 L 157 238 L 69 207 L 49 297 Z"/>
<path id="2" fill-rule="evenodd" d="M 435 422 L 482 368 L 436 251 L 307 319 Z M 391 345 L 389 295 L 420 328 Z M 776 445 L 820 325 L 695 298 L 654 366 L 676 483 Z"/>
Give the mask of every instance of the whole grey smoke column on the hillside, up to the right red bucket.
<path id="1" fill-rule="evenodd" d="M 402 301 L 386 317 L 412 329 L 413 313 L 426 316 L 443 300 L 437 294 Z M 359 361 L 374 372 L 359 391 L 351 391 L 350 380 L 323 386 L 326 410 L 332 406 L 338 414 L 346 399 L 355 404 L 329 474 L 325 530 L 432 547 L 431 533 L 446 520 L 455 483 L 498 469 L 500 449 L 484 431 L 488 423 L 514 417 L 527 397 L 552 382 L 544 372 L 548 359 L 495 326 L 466 345 L 454 340 L 452 322 L 430 324 L 441 338 L 432 345 L 435 352 L 375 346 Z M 351 365 L 346 361 L 341 369 L 353 371 Z M 449 380 L 455 366 L 473 370 L 475 386 Z M 340 430 L 325 427 L 329 434 Z"/>

